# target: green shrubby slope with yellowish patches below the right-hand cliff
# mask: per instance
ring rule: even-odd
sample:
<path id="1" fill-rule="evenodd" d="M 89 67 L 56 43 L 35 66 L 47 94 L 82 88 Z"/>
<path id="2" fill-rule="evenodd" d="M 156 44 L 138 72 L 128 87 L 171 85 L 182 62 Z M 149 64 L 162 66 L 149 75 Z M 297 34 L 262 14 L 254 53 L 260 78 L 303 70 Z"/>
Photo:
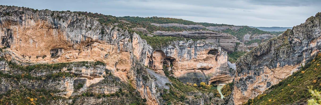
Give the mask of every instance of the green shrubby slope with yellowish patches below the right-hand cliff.
<path id="1" fill-rule="evenodd" d="M 310 97 L 308 86 L 321 90 L 321 54 L 313 61 L 306 64 L 293 75 L 282 80 L 279 84 L 271 86 L 264 94 L 253 100 L 248 100 L 246 105 L 281 105 L 306 102 Z M 302 87 L 302 88 L 300 88 Z M 306 88 L 306 89 L 303 89 Z"/>

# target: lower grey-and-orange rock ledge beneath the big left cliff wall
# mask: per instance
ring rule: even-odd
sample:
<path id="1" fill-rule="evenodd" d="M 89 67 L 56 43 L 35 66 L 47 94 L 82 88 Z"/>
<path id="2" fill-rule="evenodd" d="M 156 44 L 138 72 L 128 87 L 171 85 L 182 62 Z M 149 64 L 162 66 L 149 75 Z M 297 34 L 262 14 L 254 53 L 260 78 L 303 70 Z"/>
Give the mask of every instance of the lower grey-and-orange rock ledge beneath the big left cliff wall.
<path id="1" fill-rule="evenodd" d="M 29 74 L 25 74 L 25 72 L 19 68 L 10 67 L 5 61 L 0 61 L 0 64 L 3 65 L 3 69 L 0 70 L 1 73 L 10 75 L 22 75 L 22 80 L 19 80 L 18 82 L 14 79 L 2 79 L 2 86 L 0 87 L 1 94 L 12 89 L 19 89 L 21 88 L 21 84 L 24 84 L 24 87 L 27 88 L 55 90 L 59 91 L 55 95 L 70 97 L 84 93 L 87 89 L 89 89 L 89 87 L 95 88 L 95 86 L 92 86 L 92 84 L 100 82 L 102 79 L 104 79 L 103 77 L 105 77 L 105 66 L 92 66 L 92 62 L 64 64 L 65 66 L 62 66 L 62 69 L 60 70 L 51 68 L 43 68 L 40 70 L 37 69 L 29 72 Z M 61 72 L 69 72 L 71 74 L 74 74 L 76 77 L 64 77 L 57 79 L 54 77 L 54 75 L 52 75 L 53 77 L 48 76 L 48 74 L 51 75 Z M 31 80 L 24 79 L 24 75 L 31 75 L 35 78 L 32 78 Z M 74 87 L 78 84 L 82 84 L 82 86 L 78 89 L 75 89 Z M 101 89 L 103 90 L 103 88 Z M 114 93 L 118 91 L 117 87 L 108 89 L 110 90 L 97 92 Z"/>

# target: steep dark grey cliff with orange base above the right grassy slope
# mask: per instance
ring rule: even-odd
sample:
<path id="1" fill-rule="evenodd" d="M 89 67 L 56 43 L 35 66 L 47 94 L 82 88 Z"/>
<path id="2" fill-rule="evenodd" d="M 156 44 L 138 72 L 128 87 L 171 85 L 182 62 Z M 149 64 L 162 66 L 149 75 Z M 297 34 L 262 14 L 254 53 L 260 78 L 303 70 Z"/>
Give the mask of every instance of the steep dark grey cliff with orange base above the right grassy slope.
<path id="1" fill-rule="evenodd" d="M 240 57 L 236 63 L 234 103 L 239 105 L 297 71 L 321 49 L 321 13 L 288 29 Z"/>

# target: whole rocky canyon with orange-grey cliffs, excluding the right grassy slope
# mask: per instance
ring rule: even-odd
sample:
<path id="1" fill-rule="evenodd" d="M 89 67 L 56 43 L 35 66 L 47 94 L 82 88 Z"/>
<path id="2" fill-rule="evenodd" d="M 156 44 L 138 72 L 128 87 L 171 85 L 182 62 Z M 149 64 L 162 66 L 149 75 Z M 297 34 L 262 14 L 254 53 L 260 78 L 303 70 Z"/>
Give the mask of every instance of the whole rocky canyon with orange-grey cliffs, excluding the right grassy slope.
<path id="1" fill-rule="evenodd" d="M 321 49 L 320 12 L 277 34 L 104 18 L 110 17 L 1 5 L 0 103 L 242 105 Z M 238 52 L 247 53 L 229 60 Z M 230 93 L 219 93 L 219 84 Z"/>

